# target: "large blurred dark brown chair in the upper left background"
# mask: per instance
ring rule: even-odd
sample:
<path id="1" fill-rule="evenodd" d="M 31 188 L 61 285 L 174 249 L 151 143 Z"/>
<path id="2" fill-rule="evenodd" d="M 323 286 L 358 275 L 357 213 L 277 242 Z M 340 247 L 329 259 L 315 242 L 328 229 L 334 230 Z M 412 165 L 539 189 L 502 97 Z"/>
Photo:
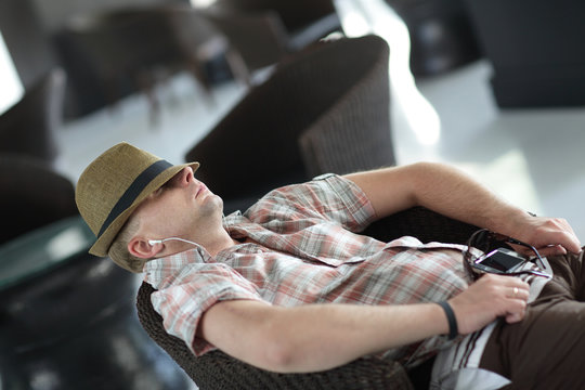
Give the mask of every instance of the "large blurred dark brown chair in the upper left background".
<path id="1" fill-rule="evenodd" d="M 210 67 L 222 61 L 227 73 L 248 83 L 248 72 L 227 39 L 207 18 L 187 5 L 126 6 L 80 15 L 55 38 L 64 66 L 73 79 L 70 112 L 87 114 L 114 105 L 140 91 L 156 120 L 156 87 L 185 72 L 211 100 Z M 92 91 L 95 96 L 88 94 Z"/>

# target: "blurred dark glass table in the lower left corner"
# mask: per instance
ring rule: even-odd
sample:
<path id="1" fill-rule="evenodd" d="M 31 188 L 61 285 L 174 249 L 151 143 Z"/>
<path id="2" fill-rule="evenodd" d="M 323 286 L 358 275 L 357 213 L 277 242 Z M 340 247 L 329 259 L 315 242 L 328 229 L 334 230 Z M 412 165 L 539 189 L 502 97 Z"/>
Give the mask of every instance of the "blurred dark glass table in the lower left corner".
<path id="1" fill-rule="evenodd" d="M 148 338 L 136 275 L 88 253 L 80 217 L 0 247 L 0 389 L 186 389 Z"/>

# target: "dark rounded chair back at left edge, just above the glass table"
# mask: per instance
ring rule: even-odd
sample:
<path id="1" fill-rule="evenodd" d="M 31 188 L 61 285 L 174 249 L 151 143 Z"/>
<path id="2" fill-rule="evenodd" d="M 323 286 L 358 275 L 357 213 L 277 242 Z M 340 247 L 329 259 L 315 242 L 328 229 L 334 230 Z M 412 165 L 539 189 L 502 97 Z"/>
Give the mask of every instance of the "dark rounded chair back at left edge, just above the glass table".
<path id="1" fill-rule="evenodd" d="M 78 213 L 73 183 L 47 162 L 0 154 L 0 243 Z"/>

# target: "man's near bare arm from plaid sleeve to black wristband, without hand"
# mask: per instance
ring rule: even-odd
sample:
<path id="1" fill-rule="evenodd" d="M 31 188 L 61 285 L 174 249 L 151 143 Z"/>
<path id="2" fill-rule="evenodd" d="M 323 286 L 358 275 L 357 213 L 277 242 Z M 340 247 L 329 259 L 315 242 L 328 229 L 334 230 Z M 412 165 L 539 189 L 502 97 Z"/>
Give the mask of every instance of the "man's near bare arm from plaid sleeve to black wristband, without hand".
<path id="1" fill-rule="evenodd" d="M 328 369 L 448 333 L 445 314 L 434 303 L 277 308 L 226 301 L 206 313 L 203 326 L 202 337 L 224 352 L 275 372 Z"/>

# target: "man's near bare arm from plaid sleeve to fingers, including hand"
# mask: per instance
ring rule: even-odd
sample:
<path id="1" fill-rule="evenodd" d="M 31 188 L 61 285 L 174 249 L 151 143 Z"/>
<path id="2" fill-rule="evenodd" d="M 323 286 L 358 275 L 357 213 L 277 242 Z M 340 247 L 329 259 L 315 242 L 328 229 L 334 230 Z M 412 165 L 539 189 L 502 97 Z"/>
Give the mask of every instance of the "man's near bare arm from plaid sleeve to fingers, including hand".
<path id="1" fill-rule="evenodd" d="M 528 295 L 519 278 L 486 275 L 450 303 L 459 333 L 468 334 L 498 316 L 510 323 L 522 320 Z M 445 313 L 435 303 L 282 308 L 231 300 L 204 314 L 197 337 L 251 365 L 290 373 L 328 369 L 447 333 Z"/>

